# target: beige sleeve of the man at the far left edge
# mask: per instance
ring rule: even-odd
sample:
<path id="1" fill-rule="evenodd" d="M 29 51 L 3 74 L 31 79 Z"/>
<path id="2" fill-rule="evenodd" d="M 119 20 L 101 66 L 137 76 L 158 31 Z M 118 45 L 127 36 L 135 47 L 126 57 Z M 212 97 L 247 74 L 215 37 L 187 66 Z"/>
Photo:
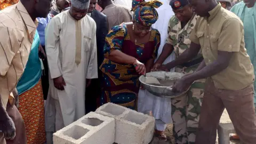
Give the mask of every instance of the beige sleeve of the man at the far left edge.
<path id="1" fill-rule="evenodd" d="M 5 76 L 20 44 L 14 29 L 0 27 L 0 76 Z"/>

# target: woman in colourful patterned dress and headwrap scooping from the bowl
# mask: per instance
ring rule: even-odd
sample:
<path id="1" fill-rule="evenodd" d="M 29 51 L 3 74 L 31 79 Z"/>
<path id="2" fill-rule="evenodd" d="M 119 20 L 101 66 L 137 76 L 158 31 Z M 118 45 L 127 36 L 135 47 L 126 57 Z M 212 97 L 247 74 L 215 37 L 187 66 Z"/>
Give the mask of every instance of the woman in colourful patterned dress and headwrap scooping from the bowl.
<path id="1" fill-rule="evenodd" d="M 104 79 L 100 105 L 113 102 L 137 109 L 139 76 L 150 71 L 161 41 L 158 30 L 151 28 L 158 19 L 155 7 L 161 5 L 157 0 L 134 0 L 133 22 L 110 29 L 104 47 L 105 59 L 100 66 Z"/>

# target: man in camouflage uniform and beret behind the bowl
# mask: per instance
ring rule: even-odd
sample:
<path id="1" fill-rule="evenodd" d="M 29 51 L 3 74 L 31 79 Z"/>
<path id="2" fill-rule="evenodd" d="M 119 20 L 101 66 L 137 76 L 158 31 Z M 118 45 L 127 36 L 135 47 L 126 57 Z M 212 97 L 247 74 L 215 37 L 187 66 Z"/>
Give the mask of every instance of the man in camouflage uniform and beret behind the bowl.
<path id="1" fill-rule="evenodd" d="M 174 50 L 176 57 L 190 47 L 189 35 L 196 25 L 197 16 L 193 13 L 187 0 L 171 0 L 170 5 L 175 15 L 169 21 L 166 44 L 153 70 L 167 70 L 161 66 Z M 176 72 L 191 74 L 202 62 L 201 53 L 183 65 L 173 65 Z M 170 69 L 170 67 L 169 67 Z M 195 143 L 196 131 L 204 94 L 205 79 L 195 81 L 187 94 L 172 99 L 173 134 L 175 143 Z"/>

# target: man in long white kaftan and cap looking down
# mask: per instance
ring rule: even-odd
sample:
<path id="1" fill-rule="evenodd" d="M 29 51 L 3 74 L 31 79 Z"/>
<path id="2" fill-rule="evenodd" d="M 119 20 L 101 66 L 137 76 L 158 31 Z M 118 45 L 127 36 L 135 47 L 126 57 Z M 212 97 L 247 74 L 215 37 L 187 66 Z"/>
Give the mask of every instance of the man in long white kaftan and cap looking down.
<path id="1" fill-rule="evenodd" d="M 52 133 L 85 115 L 85 87 L 98 78 L 96 24 L 90 0 L 72 0 L 45 30 L 50 88 L 45 107 L 47 144 Z"/>

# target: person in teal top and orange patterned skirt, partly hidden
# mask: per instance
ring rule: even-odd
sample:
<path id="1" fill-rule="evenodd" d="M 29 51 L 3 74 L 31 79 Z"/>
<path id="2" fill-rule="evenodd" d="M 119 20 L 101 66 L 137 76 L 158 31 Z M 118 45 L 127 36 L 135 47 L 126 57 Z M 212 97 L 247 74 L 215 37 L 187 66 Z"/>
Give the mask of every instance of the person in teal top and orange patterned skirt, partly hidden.
<path id="1" fill-rule="evenodd" d="M 27 144 L 43 144 L 46 141 L 42 69 L 38 51 L 43 54 L 42 59 L 45 53 L 43 48 L 39 47 L 39 41 L 36 30 L 26 68 L 17 85 L 19 111 L 25 123 Z"/>

